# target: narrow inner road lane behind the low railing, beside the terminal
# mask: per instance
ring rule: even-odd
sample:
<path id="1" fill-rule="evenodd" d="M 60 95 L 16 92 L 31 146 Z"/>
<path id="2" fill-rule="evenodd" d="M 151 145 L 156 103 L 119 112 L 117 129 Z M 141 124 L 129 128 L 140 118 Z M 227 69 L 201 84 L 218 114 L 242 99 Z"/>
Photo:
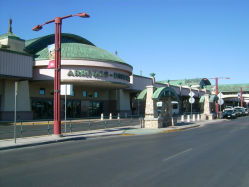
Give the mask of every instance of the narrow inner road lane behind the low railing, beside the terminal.
<path id="1" fill-rule="evenodd" d="M 70 125 L 71 124 L 71 125 Z M 127 118 L 120 120 L 84 120 L 83 122 L 68 122 L 66 127 L 66 132 L 77 132 L 77 131 L 87 131 L 95 129 L 104 129 L 112 127 L 122 127 L 122 126 L 132 126 L 140 125 L 139 118 Z M 62 124 L 62 132 L 65 132 L 65 126 Z M 71 128 L 70 128 L 71 127 Z M 47 124 L 36 124 L 34 125 L 17 125 L 16 126 L 16 136 L 19 137 L 30 137 L 30 136 L 40 136 L 53 134 L 52 122 Z M 14 136 L 14 126 L 13 125 L 0 125 L 0 140 L 1 139 L 11 139 Z"/>

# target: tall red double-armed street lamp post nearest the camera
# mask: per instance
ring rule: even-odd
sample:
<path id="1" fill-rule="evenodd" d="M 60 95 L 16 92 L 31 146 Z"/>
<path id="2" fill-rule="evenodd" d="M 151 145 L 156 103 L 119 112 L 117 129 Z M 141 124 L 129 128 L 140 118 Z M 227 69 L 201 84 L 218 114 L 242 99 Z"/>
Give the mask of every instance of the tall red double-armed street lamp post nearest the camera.
<path id="1" fill-rule="evenodd" d="M 89 18 L 87 13 L 78 13 L 64 17 L 56 17 L 42 25 L 32 28 L 34 31 L 42 29 L 43 25 L 55 23 L 55 68 L 54 68 L 54 135 L 61 135 L 61 118 L 60 118 L 60 80 L 61 80 L 61 25 L 62 20 L 74 16 Z"/>

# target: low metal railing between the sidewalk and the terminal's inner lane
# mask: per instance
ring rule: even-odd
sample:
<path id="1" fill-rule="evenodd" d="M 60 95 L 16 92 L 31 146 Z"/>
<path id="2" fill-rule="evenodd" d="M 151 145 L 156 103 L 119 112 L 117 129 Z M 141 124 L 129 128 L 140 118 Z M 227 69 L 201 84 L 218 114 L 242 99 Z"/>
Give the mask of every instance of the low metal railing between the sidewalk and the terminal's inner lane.
<path id="1" fill-rule="evenodd" d="M 89 131 L 97 129 L 141 126 L 141 118 L 134 115 L 102 116 L 99 118 L 68 119 L 61 122 L 62 133 Z M 16 138 L 53 134 L 53 121 L 18 121 L 16 128 L 12 122 L 0 123 L 0 139 L 12 139 L 16 130 Z"/>

